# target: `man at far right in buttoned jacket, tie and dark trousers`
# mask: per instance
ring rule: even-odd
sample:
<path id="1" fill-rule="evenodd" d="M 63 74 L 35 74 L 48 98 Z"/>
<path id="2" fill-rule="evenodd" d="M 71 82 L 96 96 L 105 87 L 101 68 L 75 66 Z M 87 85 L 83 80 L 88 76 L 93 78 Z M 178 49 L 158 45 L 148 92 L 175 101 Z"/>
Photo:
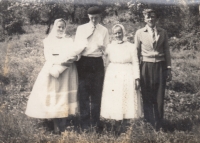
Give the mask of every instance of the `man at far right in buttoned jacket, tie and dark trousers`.
<path id="1" fill-rule="evenodd" d="M 170 81 L 171 56 L 167 32 L 156 25 L 154 9 L 143 11 L 146 26 L 135 35 L 141 72 L 144 118 L 156 130 L 162 127 L 166 81 Z"/>

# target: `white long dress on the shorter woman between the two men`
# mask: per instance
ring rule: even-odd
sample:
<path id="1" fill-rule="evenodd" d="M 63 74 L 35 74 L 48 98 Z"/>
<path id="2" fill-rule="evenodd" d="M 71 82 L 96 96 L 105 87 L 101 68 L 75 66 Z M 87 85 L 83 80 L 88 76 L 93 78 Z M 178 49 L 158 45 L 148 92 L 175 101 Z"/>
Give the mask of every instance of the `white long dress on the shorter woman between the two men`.
<path id="1" fill-rule="evenodd" d="M 135 90 L 135 79 L 140 78 L 135 45 L 112 42 L 107 50 L 101 116 L 107 119 L 133 119 L 142 116 L 141 97 Z"/>

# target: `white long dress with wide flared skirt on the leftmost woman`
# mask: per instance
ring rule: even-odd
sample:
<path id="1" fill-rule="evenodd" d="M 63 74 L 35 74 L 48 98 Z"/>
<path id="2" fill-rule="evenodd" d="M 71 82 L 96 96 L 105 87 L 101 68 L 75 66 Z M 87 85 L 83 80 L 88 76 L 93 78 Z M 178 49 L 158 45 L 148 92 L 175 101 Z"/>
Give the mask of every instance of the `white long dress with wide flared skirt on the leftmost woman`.
<path id="1" fill-rule="evenodd" d="M 46 62 L 33 86 L 25 112 L 30 117 L 62 118 L 78 111 L 76 66 L 71 64 L 58 78 L 49 74 L 53 64 L 58 63 L 63 54 L 73 48 L 69 46 L 73 40 L 71 38 L 53 40 L 53 45 L 45 44 L 49 41 L 44 42 Z"/>

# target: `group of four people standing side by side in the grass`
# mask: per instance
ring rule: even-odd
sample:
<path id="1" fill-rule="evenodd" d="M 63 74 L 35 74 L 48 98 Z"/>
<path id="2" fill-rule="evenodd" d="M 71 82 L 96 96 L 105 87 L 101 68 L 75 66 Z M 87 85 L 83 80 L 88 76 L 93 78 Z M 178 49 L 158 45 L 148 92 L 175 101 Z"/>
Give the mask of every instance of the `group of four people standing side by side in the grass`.
<path id="1" fill-rule="evenodd" d="M 99 126 L 100 116 L 135 119 L 144 110 L 147 122 L 160 129 L 165 85 L 172 76 L 167 33 L 156 26 L 156 11 L 143 11 L 146 26 L 136 32 L 135 44 L 125 40 L 121 24 L 113 26 L 110 43 L 107 28 L 99 24 L 100 14 L 98 7 L 88 9 L 90 21 L 77 28 L 74 42 L 65 35 L 65 20 L 55 20 L 43 41 L 46 62 L 25 113 L 53 118 L 54 130 L 62 131 L 70 114 L 80 113 L 86 129 Z"/>

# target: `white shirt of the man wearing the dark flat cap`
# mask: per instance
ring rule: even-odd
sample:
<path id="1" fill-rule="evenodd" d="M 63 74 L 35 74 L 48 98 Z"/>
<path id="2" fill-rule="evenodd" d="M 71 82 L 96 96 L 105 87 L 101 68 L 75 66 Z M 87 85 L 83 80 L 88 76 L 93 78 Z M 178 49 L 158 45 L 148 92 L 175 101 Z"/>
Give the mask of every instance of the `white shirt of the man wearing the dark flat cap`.
<path id="1" fill-rule="evenodd" d="M 81 55 L 101 57 L 103 53 L 99 46 L 106 47 L 109 44 L 108 30 L 104 26 L 97 24 L 94 33 L 88 38 L 93 28 L 94 26 L 91 23 L 80 25 L 76 31 L 75 44 L 78 48 L 84 49 Z"/>

